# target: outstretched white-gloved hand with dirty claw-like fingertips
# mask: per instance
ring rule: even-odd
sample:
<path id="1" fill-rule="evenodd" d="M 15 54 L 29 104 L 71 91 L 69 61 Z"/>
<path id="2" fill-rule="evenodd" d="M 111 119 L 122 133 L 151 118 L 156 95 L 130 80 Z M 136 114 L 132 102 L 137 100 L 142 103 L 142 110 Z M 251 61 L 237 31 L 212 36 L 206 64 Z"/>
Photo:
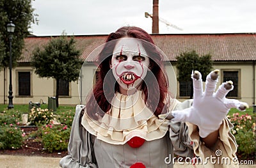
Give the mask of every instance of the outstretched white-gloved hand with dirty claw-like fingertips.
<path id="1" fill-rule="evenodd" d="M 166 119 L 174 121 L 188 121 L 197 125 L 200 137 L 204 138 L 215 130 L 218 130 L 223 119 L 230 108 L 237 108 L 244 111 L 248 104 L 235 99 L 228 99 L 225 96 L 234 86 L 232 81 L 224 82 L 216 93 L 219 70 L 214 70 L 206 78 L 205 91 L 203 91 L 202 75 L 195 71 L 191 74 L 194 86 L 193 105 L 182 111 L 172 111 Z"/>

